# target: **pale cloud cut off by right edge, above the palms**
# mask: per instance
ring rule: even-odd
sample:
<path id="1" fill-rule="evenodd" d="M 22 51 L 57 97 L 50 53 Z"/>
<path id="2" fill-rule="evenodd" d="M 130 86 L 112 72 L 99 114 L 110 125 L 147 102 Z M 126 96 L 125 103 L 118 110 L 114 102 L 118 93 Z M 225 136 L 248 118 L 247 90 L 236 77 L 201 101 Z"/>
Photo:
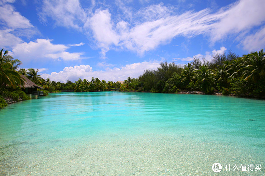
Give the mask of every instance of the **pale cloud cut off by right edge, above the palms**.
<path id="1" fill-rule="evenodd" d="M 248 52 L 259 51 L 265 48 L 265 27 L 255 34 L 248 35 L 242 42 L 243 48 Z"/>

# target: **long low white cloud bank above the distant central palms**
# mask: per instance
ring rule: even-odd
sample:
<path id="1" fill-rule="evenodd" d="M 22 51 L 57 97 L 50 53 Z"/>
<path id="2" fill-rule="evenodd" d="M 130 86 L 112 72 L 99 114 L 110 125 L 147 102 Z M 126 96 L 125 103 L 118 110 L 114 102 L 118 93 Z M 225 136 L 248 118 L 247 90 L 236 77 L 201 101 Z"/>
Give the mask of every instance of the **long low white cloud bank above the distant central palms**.
<path id="1" fill-rule="evenodd" d="M 92 77 L 98 77 L 100 80 L 105 81 L 123 81 L 128 76 L 137 78 L 140 76 L 145 69 L 156 69 L 159 67 L 158 62 L 141 62 L 128 64 L 125 67 L 108 69 L 106 71 L 93 71 L 89 65 L 80 65 L 74 67 L 65 67 L 63 71 L 52 72 L 51 74 L 42 74 L 41 77 L 44 79 L 50 78 L 53 81 L 66 82 L 77 81 L 81 79 L 91 79 Z"/>

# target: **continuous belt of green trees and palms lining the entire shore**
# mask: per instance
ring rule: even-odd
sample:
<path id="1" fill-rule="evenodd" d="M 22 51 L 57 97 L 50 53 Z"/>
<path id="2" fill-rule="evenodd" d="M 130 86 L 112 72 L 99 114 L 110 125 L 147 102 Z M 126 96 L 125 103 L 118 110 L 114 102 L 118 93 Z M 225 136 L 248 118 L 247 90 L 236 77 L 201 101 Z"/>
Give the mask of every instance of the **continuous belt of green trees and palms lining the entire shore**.
<path id="1" fill-rule="evenodd" d="M 108 91 L 137 91 L 154 93 L 198 93 L 237 95 L 245 97 L 264 98 L 265 95 L 265 53 L 252 52 L 242 57 L 228 51 L 215 54 L 211 62 L 200 61 L 194 57 L 191 63 L 184 67 L 174 62 L 160 63 L 156 70 L 145 70 L 138 78 L 128 77 L 124 81 L 104 81 L 92 77 L 91 80 L 79 79 L 74 83 L 55 82 L 41 78 L 38 70 L 19 68 L 19 59 L 8 55 L 8 51 L 0 52 L 0 108 L 7 106 L 4 98 L 14 101 L 29 100 L 25 93 L 26 76 L 32 82 L 43 88 L 43 95 L 48 92 L 73 90 L 75 92 Z M 24 90 L 24 91 L 22 91 Z M 198 92 L 199 91 L 199 92 Z"/>

